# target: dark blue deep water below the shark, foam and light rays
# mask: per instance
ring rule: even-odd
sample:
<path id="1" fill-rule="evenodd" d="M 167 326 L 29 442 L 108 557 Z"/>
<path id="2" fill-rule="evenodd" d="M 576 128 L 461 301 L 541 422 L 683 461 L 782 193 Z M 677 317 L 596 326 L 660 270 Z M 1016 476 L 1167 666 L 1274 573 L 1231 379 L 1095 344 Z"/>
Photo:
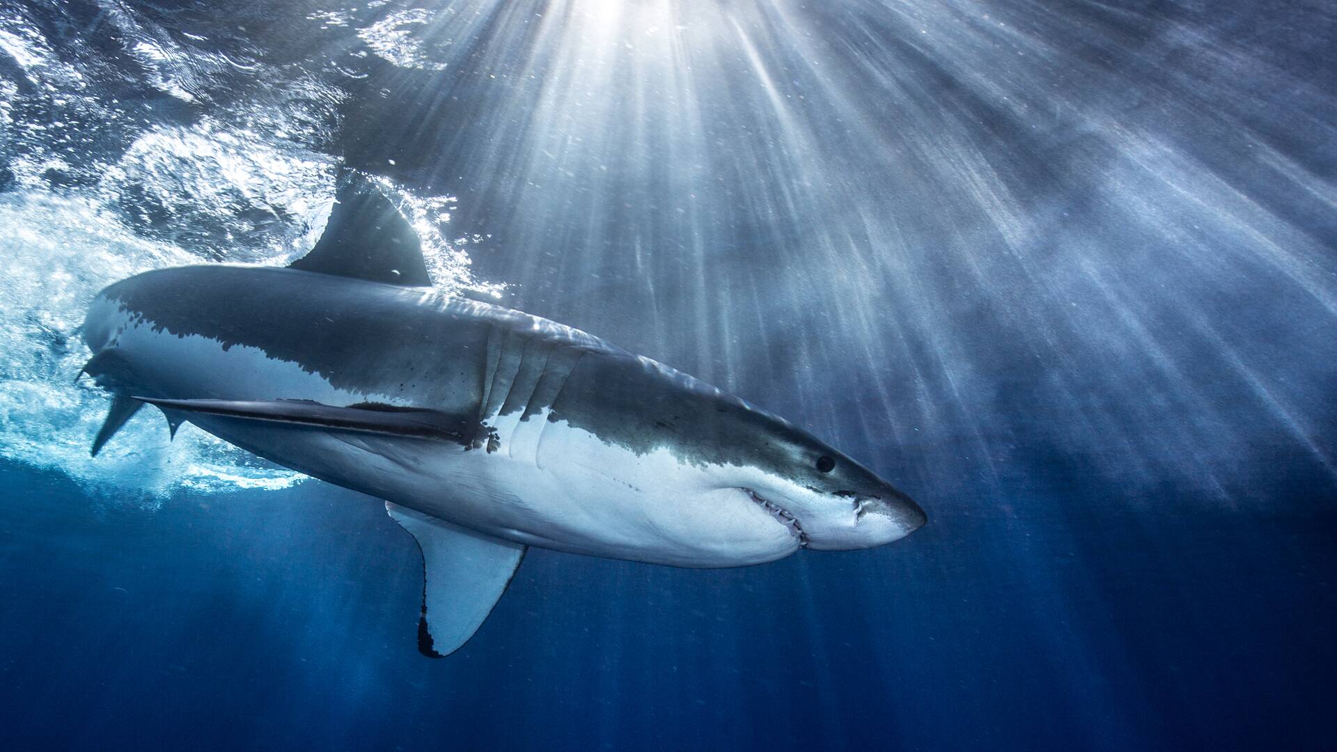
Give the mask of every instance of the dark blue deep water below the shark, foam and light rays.
<path id="1" fill-rule="evenodd" d="M 1334 491 L 1177 514 L 1052 482 L 898 546 L 690 571 L 532 551 L 459 654 L 421 565 L 310 484 L 94 511 L 0 475 L 5 736 L 52 748 L 1322 749 Z M 1170 496 L 1169 499 L 1173 499 Z M 1011 507 L 1021 507 L 1017 512 Z M 1136 514 L 1130 507 L 1139 508 Z M 11 741 L 12 743 L 12 741 Z"/>

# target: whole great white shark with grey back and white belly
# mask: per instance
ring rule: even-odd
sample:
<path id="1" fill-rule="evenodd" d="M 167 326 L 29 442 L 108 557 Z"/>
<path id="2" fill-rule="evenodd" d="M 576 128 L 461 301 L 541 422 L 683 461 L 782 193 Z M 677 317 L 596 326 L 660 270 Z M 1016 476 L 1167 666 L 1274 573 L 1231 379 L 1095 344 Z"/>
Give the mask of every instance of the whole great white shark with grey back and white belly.
<path id="1" fill-rule="evenodd" d="M 418 648 L 464 645 L 528 546 L 681 567 L 897 541 L 924 511 L 797 426 L 598 337 L 431 288 L 370 181 L 287 268 L 138 274 L 88 309 L 112 393 L 385 502 L 424 559 Z"/>

